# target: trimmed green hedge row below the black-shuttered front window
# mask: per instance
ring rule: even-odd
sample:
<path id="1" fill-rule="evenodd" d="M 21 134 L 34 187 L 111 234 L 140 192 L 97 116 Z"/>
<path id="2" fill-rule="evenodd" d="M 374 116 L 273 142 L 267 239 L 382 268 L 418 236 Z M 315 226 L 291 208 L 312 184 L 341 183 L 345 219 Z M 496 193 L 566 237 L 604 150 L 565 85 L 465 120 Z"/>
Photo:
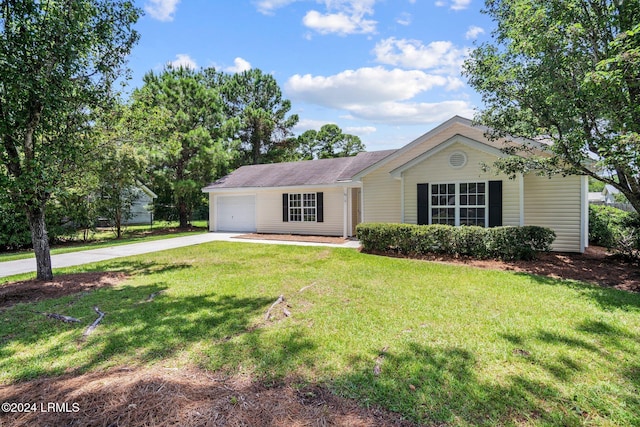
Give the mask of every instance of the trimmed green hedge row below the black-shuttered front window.
<path id="1" fill-rule="evenodd" d="M 453 227 L 450 225 L 412 225 L 362 223 L 356 228 L 366 252 L 466 255 L 475 258 L 530 260 L 547 252 L 555 240 L 549 228 Z"/>

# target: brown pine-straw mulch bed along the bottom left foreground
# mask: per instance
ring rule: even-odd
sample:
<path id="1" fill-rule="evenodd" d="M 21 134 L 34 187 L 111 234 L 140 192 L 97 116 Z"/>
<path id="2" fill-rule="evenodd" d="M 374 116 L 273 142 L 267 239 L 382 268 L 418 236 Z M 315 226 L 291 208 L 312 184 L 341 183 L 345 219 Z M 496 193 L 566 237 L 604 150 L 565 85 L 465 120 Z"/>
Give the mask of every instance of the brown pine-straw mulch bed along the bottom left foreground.
<path id="1" fill-rule="evenodd" d="M 413 425 L 321 386 L 288 380 L 267 387 L 199 369 L 118 368 L 44 378 L 0 387 L 0 401 L 36 405 L 32 412 L 0 414 L 2 426 Z"/>

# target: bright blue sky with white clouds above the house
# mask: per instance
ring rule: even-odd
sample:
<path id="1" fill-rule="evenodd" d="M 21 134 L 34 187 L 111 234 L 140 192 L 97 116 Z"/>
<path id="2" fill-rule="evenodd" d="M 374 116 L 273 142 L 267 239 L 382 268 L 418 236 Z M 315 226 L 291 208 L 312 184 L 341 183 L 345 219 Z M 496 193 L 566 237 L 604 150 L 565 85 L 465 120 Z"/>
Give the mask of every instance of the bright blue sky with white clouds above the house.
<path id="1" fill-rule="evenodd" d="M 297 134 L 335 123 L 368 151 L 399 148 L 479 96 L 460 75 L 492 22 L 482 0 L 136 0 L 138 87 L 167 63 L 272 74 Z"/>

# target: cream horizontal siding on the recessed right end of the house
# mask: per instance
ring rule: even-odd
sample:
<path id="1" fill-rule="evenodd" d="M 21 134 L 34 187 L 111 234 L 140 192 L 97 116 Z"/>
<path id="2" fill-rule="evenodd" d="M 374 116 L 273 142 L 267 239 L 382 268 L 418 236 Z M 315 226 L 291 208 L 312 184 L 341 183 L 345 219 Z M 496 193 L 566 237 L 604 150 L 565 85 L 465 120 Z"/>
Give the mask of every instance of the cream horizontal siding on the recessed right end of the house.
<path id="1" fill-rule="evenodd" d="M 524 179 L 525 225 L 549 227 L 556 232 L 553 250 L 580 252 L 582 230 L 582 177 L 527 175 Z"/>

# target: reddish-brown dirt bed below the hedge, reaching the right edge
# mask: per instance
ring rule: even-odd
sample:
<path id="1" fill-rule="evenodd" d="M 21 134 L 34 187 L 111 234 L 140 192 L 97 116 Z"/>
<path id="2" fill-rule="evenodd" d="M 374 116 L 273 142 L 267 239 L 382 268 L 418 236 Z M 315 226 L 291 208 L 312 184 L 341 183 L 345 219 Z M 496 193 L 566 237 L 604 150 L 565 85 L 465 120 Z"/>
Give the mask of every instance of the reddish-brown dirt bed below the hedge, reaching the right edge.
<path id="1" fill-rule="evenodd" d="M 640 265 L 590 246 L 584 254 L 550 252 L 533 261 L 478 260 L 453 256 L 424 256 L 427 261 L 463 264 L 493 270 L 537 274 L 555 279 L 579 280 L 594 285 L 640 292 Z"/>

